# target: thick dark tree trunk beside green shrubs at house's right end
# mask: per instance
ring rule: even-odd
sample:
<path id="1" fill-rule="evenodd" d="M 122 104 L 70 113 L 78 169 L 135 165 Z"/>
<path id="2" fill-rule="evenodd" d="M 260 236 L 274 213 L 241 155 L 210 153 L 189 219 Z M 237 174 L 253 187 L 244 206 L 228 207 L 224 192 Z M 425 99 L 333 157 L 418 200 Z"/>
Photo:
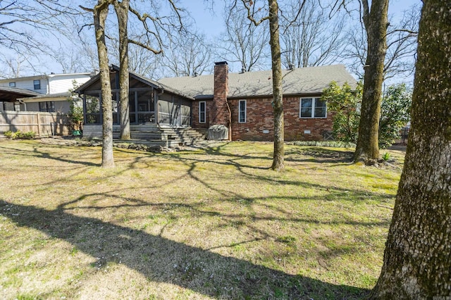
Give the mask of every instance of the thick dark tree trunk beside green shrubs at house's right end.
<path id="1" fill-rule="evenodd" d="M 364 66 L 364 94 L 359 123 L 359 137 L 354 161 L 379 158 L 378 132 L 381 115 L 383 63 L 387 49 L 388 0 L 361 0 L 364 7 L 364 25 L 368 40 L 368 52 Z"/>

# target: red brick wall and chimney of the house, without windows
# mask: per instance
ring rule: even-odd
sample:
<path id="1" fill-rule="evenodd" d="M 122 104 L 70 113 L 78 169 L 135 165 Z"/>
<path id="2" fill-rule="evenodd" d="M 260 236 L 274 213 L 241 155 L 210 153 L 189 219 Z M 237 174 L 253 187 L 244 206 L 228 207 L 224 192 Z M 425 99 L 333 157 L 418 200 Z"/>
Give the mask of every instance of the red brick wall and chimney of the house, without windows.
<path id="1" fill-rule="evenodd" d="M 229 111 L 226 101 L 227 95 L 228 65 L 226 62 L 215 63 L 214 99 L 205 101 L 206 122 L 199 123 L 199 101 L 194 101 L 192 105 L 192 127 L 208 128 L 211 125 L 220 124 L 228 127 Z M 232 139 L 272 141 L 274 136 L 272 98 L 252 98 L 246 100 L 246 123 L 238 123 L 240 100 L 228 99 L 232 113 Z M 332 131 L 332 117 L 330 113 L 328 113 L 328 118 L 299 118 L 299 97 L 284 97 L 283 110 L 285 141 L 322 140 L 323 132 Z"/>

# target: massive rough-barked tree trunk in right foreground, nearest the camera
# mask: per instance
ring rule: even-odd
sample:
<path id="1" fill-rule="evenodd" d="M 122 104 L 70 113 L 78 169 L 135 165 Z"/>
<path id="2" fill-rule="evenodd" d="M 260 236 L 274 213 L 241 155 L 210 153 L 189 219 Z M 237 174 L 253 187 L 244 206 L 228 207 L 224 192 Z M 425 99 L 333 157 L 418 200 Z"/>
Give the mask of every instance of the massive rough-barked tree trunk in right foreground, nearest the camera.
<path id="1" fill-rule="evenodd" d="M 451 2 L 423 2 L 412 130 L 373 299 L 451 296 Z"/>

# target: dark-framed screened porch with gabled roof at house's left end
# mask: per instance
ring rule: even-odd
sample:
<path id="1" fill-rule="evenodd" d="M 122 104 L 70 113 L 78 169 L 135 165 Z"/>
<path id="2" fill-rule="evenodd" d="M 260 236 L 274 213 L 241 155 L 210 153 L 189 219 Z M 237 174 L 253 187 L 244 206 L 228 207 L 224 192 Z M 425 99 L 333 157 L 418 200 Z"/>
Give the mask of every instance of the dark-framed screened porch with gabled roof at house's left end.
<path id="1" fill-rule="evenodd" d="M 130 127 L 155 125 L 158 127 L 190 127 L 191 105 L 194 99 L 171 87 L 129 73 Z M 118 132 L 121 122 L 119 103 L 119 68 L 110 68 L 111 98 L 113 101 L 113 132 Z M 101 107 L 101 82 L 99 75 L 75 90 L 83 99 L 83 135 L 97 137 L 103 122 Z"/>

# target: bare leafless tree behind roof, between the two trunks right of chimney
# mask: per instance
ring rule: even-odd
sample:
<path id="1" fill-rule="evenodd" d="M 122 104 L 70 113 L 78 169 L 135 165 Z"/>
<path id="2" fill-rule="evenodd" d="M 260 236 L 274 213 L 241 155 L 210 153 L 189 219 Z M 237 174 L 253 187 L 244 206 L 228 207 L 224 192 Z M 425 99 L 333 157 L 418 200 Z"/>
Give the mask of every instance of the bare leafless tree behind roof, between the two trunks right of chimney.
<path id="1" fill-rule="evenodd" d="M 301 5 L 304 5 L 302 10 Z M 298 11 L 297 16 L 295 13 Z M 342 56 L 345 13 L 339 11 L 330 18 L 317 0 L 307 0 L 304 4 L 292 0 L 283 7 L 281 20 L 280 37 L 286 68 L 327 65 Z"/>

